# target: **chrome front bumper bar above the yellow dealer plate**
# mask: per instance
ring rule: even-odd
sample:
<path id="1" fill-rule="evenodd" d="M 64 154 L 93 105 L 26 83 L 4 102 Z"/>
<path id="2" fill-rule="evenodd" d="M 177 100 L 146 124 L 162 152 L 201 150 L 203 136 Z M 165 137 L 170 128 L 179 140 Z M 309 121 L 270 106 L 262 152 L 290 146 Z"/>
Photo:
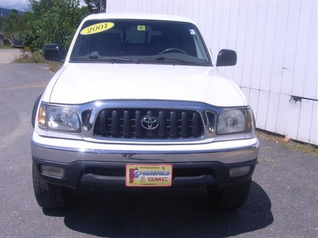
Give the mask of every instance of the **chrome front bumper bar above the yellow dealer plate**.
<path id="1" fill-rule="evenodd" d="M 43 137 L 36 132 L 31 138 L 33 158 L 66 164 L 78 161 L 234 164 L 257 159 L 258 147 L 259 142 L 256 137 L 193 145 L 106 144 Z"/>

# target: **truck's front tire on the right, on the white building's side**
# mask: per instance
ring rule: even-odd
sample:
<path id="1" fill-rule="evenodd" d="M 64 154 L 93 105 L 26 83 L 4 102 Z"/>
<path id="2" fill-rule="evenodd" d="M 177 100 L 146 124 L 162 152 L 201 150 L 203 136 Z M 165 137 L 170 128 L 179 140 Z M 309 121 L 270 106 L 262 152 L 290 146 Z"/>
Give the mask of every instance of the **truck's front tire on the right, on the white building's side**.
<path id="1" fill-rule="evenodd" d="M 237 209 L 246 202 L 251 181 L 251 179 L 248 179 L 247 181 L 221 189 L 208 187 L 209 197 L 215 207 L 232 210 Z"/>

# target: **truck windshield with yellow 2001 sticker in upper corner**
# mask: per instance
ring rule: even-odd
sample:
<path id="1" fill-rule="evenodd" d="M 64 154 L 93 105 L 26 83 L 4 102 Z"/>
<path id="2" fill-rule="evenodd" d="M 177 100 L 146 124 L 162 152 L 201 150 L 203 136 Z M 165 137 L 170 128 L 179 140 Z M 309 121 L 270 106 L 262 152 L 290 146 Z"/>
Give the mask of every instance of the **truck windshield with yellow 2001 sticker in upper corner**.
<path id="1" fill-rule="evenodd" d="M 136 19 L 86 21 L 70 61 L 212 65 L 192 23 Z"/>

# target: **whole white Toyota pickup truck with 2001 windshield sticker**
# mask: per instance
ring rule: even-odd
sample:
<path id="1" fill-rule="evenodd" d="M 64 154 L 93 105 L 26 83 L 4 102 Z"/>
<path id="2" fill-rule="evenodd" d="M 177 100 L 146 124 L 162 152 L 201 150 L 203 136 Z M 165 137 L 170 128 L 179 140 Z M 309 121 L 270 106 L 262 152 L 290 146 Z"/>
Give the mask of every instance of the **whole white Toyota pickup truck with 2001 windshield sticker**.
<path id="1" fill-rule="evenodd" d="M 213 45 L 213 43 L 212 43 Z M 33 185 L 44 208 L 70 189 L 206 186 L 215 206 L 247 198 L 258 156 L 253 113 L 218 71 L 196 24 L 184 17 L 102 13 L 80 23 L 64 62 L 35 102 Z"/>

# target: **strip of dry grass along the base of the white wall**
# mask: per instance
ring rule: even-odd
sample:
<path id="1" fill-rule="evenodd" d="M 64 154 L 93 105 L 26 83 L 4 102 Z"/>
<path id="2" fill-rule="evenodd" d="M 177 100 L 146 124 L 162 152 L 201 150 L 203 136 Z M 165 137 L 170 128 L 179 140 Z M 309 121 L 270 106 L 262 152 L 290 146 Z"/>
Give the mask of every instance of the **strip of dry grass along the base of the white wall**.
<path id="1" fill-rule="evenodd" d="M 265 132 L 260 131 L 260 130 L 256 130 L 255 134 L 258 138 L 274 141 L 277 144 L 282 145 L 286 148 L 291 148 L 291 149 L 299 150 L 299 151 L 304 152 L 304 153 L 318 156 L 318 146 L 316 146 L 316 145 L 312 145 L 312 144 L 308 144 L 308 143 L 304 143 L 304 142 L 299 142 L 299 141 L 295 141 L 295 140 L 289 140 L 287 142 L 286 139 L 284 140 L 283 136 L 265 133 Z"/>

